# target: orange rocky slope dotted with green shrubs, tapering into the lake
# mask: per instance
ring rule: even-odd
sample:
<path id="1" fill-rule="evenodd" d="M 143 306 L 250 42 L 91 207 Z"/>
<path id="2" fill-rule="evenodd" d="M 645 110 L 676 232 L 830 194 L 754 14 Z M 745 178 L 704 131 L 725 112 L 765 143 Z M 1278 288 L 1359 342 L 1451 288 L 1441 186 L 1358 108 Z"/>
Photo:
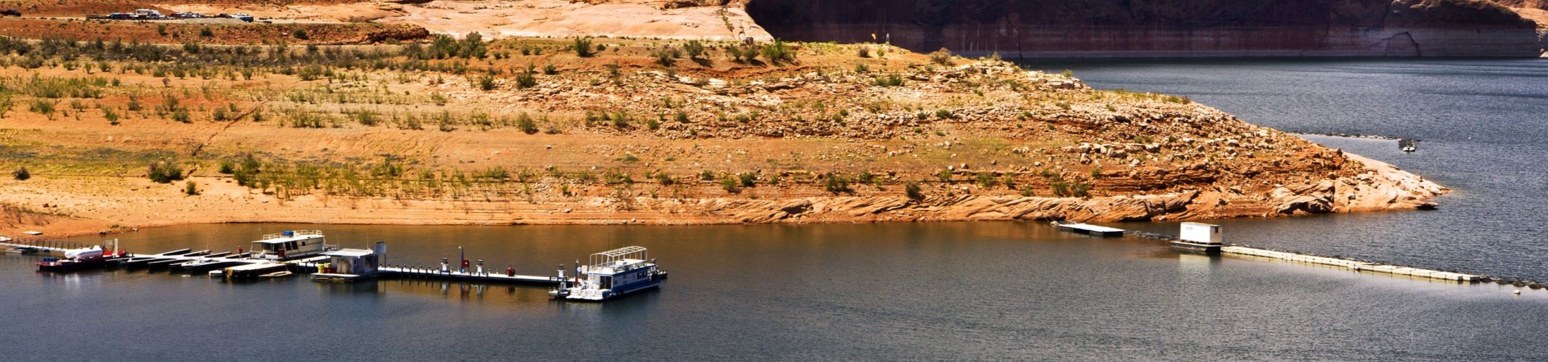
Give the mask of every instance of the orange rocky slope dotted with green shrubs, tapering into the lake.
<path id="1" fill-rule="evenodd" d="M 763 43 L 759 60 L 734 60 L 734 43 L 689 57 L 686 42 L 594 42 L 588 57 L 571 40 L 480 43 L 500 56 L 472 62 L 426 60 L 418 45 L 170 46 L 163 59 L 251 65 L 105 73 L 11 56 L 0 79 L 23 107 L 0 119 L 0 167 L 34 178 L 0 183 L 0 203 L 90 232 L 1178 220 L 1415 209 L 1444 192 L 1183 97 L 992 59 Z M 51 93 L 73 82 L 84 93 Z M 152 183 L 153 162 L 187 179 Z"/>

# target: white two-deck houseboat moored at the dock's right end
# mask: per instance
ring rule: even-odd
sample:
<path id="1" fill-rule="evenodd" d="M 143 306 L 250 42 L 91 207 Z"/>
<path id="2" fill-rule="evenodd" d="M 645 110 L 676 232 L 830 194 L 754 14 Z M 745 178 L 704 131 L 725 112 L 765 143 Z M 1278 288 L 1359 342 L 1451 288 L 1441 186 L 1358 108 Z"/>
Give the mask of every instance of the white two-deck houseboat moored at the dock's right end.
<path id="1" fill-rule="evenodd" d="M 658 288 L 667 274 L 647 260 L 646 248 L 639 246 L 591 254 L 591 265 L 577 265 L 574 280 L 562 282 L 548 295 L 601 302 Z"/>

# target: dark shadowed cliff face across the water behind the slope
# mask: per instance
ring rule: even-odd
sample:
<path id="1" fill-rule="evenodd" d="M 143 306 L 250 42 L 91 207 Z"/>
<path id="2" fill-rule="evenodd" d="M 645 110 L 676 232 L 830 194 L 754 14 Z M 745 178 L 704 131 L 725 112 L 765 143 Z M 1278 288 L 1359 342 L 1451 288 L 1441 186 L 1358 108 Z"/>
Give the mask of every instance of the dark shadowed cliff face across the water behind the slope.
<path id="1" fill-rule="evenodd" d="M 1536 25 L 1475 0 L 751 0 L 771 34 L 1005 57 L 1539 56 Z"/>

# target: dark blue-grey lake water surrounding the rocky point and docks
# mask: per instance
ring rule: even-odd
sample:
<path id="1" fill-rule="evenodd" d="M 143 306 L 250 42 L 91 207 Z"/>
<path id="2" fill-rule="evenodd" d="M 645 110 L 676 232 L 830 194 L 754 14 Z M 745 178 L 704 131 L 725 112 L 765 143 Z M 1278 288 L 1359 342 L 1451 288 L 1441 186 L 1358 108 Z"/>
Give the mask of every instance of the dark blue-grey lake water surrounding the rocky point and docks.
<path id="1" fill-rule="evenodd" d="M 1187 94 L 1455 190 L 1440 210 L 1228 220 L 1237 243 L 1548 280 L 1543 60 L 1033 63 L 1099 88 Z M 1116 224 L 1175 234 L 1175 224 Z M 39 274 L 0 255 L 6 360 L 1543 360 L 1548 292 L 1181 255 L 1042 223 L 817 226 L 211 224 L 115 235 L 229 251 L 324 229 L 389 263 L 550 274 L 646 246 L 672 278 L 607 303 L 424 280 L 224 283 Z M 96 237 L 77 238 L 99 241 Z M 110 354 L 111 357 L 105 357 Z"/>

